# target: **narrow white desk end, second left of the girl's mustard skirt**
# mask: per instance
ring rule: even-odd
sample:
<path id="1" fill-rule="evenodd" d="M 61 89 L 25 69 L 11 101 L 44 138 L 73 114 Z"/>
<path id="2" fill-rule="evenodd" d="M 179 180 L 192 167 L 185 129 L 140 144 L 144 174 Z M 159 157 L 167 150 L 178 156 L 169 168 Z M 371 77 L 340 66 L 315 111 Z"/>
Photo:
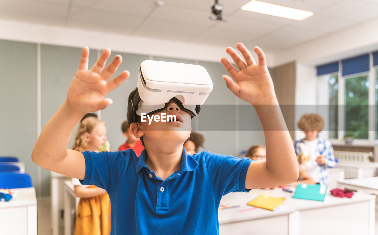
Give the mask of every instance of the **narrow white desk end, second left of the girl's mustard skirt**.
<path id="1" fill-rule="evenodd" d="M 63 218 L 60 213 L 64 210 L 64 181 L 67 176 L 52 172 L 51 174 L 51 228 L 53 235 L 59 235 L 59 227 L 63 226 Z"/>

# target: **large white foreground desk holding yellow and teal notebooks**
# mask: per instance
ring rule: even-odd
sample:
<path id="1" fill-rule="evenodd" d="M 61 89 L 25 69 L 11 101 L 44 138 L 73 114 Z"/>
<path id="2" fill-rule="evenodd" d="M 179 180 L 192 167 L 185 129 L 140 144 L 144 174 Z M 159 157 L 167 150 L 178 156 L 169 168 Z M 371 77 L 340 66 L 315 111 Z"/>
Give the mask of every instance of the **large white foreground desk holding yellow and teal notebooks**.
<path id="1" fill-rule="evenodd" d="M 256 192 L 251 190 L 250 193 L 254 191 Z M 260 192 L 262 189 L 257 191 Z M 280 188 L 265 191 L 265 195 L 286 197 L 282 205 L 287 206 L 288 209 L 281 211 L 287 213 L 286 217 L 277 213 L 279 211 L 265 210 L 265 213 L 260 214 L 258 210 L 264 210 L 260 208 L 251 210 L 249 215 L 243 217 L 240 214 L 245 212 L 238 210 L 244 208 L 248 200 L 244 195 L 237 194 L 245 193 L 231 193 L 235 194 L 233 197 L 239 197 L 241 206 L 219 211 L 221 234 L 251 234 L 255 229 L 256 234 L 375 234 L 374 195 L 356 193 L 353 198 L 336 198 L 327 192 L 322 202 L 293 198 L 293 193 L 284 192 Z M 256 223 L 259 217 L 262 227 Z M 228 220 L 225 221 L 225 218 Z M 225 222 L 228 222 L 228 227 L 225 227 Z"/>

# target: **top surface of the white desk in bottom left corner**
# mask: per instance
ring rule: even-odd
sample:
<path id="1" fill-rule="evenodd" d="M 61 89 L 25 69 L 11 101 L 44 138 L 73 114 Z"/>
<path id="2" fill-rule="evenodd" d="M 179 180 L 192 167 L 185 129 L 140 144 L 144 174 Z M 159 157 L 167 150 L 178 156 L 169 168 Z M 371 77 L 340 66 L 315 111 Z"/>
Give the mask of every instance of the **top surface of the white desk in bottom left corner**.
<path id="1" fill-rule="evenodd" d="M 10 201 L 0 201 L 0 209 L 37 205 L 36 189 L 34 189 L 34 187 L 11 189 L 12 193 L 14 191 L 18 191 L 18 195 Z"/>

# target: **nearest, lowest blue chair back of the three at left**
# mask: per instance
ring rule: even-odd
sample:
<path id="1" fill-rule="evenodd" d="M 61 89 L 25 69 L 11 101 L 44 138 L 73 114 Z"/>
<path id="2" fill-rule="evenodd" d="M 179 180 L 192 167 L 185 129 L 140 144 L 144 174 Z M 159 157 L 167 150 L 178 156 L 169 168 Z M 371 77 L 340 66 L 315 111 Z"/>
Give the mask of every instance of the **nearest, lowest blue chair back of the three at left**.
<path id="1" fill-rule="evenodd" d="M 17 189 L 27 187 L 33 187 L 29 174 L 19 172 L 0 172 L 1 189 Z"/>

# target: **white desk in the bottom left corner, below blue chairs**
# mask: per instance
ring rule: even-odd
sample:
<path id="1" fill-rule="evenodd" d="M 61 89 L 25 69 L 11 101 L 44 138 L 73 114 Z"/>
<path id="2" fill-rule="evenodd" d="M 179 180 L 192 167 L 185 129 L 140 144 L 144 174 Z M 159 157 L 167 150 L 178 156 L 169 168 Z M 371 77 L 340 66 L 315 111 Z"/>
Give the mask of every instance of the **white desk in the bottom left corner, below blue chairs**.
<path id="1" fill-rule="evenodd" d="M 37 198 L 33 187 L 11 189 L 19 194 L 0 201 L 0 235 L 37 235 Z"/>

